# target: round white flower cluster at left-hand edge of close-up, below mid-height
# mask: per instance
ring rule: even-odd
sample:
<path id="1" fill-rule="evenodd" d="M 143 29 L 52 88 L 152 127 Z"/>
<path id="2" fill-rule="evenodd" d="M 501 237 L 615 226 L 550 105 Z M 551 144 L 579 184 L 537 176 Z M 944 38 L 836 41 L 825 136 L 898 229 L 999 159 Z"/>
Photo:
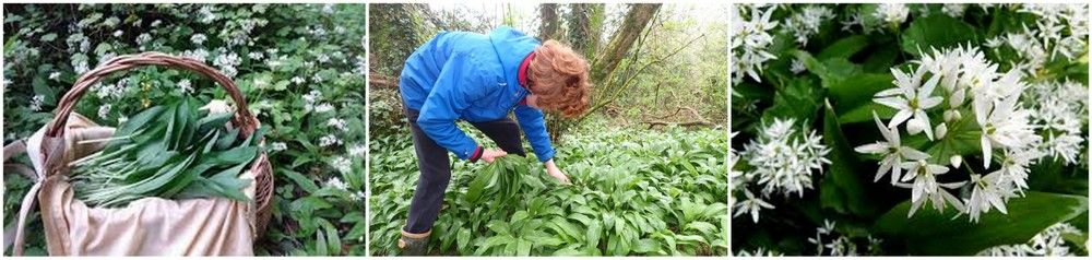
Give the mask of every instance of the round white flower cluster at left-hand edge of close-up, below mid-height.
<path id="1" fill-rule="evenodd" d="M 744 196 L 733 198 L 733 217 L 750 213 L 751 220 L 758 223 L 759 211 L 774 209 L 764 199 L 774 194 L 788 197 L 793 193 L 803 197 L 805 190 L 812 189 L 812 173 L 818 170 L 822 174 L 822 165 L 830 164 L 826 157 L 830 149 L 822 144 L 821 137 L 814 130 L 797 133 L 794 126 L 794 119 L 774 119 L 773 123 L 764 126 L 759 135 L 744 146 L 739 156 L 743 156 L 752 170 L 735 170 L 734 166 L 739 157 L 729 151 L 733 193 Z M 761 187 L 761 193 L 756 196 L 751 192 L 748 189 L 751 186 Z"/>

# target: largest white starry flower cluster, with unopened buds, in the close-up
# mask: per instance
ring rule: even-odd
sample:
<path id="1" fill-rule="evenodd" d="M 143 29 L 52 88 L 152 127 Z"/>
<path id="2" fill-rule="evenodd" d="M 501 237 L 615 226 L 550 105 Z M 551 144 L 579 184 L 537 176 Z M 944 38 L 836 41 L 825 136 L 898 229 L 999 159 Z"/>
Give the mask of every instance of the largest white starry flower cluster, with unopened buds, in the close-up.
<path id="1" fill-rule="evenodd" d="M 939 211 L 950 204 L 961 214 L 970 215 L 972 222 L 992 209 L 1006 213 L 1007 200 L 1022 196 L 1028 188 L 1028 166 L 1044 156 L 1040 149 L 1043 137 L 1035 131 L 1040 127 L 1034 125 L 1033 110 L 1021 103 L 1021 95 L 1029 87 L 1021 73 L 999 72 L 997 64 L 986 60 L 977 48 L 970 47 L 933 50 L 914 62 L 918 67 L 909 73 L 892 69 L 897 87 L 881 91 L 874 98 L 898 110 L 887 123 L 874 113 L 886 141 L 865 144 L 856 151 L 882 156 L 876 180 L 890 172 L 892 185 L 912 189 L 910 215 L 926 201 Z M 930 114 L 941 117 L 933 119 Z M 925 153 L 903 146 L 900 126 L 905 126 L 902 129 L 910 135 L 925 133 L 927 146 L 939 149 Z M 950 131 L 959 131 L 962 137 L 948 134 Z M 983 162 L 977 173 L 986 174 L 978 175 L 966 165 L 970 180 L 938 182 L 937 176 L 963 165 L 962 155 L 946 152 L 945 147 L 966 134 L 977 135 Z M 999 164 L 992 164 L 994 161 Z M 906 170 L 905 175 L 901 169 Z M 960 199 L 946 190 L 968 184 L 970 198 Z"/>

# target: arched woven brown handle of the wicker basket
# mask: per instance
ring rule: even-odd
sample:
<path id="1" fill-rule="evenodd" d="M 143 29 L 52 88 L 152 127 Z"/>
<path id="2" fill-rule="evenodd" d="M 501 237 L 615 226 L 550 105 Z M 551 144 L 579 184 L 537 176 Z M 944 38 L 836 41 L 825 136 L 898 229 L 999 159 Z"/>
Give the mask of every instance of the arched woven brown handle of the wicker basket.
<path id="1" fill-rule="evenodd" d="M 216 81 L 216 83 L 219 83 L 219 85 L 227 91 L 227 94 L 232 96 L 232 99 L 235 101 L 236 115 L 233 122 L 239 127 L 244 135 L 250 135 L 258 129 L 258 119 L 250 114 L 250 109 L 247 108 L 246 98 L 244 98 L 242 93 L 239 92 L 239 87 L 235 84 L 235 82 L 232 81 L 232 79 L 228 79 L 227 75 L 224 75 L 216 69 L 209 67 L 199 60 L 151 51 L 115 57 L 106 62 L 103 62 L 94 70 L 80 75 L 80 79 L 75 81 L 72 88 L 69 90 L 69 92 L 66 93 L 64 96 L 57 103 L 57 110 L 54 113 L 54 120 L 49 122 L 45 135 L 56 138 L 64 133 L 64 122 L 68 121 L 69 115 L 72 114 L 72 110 L 75 108 L 75 103 L 80 101 L 80 97 L 82 97 L 93 84 L 115 71 L 124 71 L 144 66 L 181 68 L 209 76 L 210 79 Z"/>

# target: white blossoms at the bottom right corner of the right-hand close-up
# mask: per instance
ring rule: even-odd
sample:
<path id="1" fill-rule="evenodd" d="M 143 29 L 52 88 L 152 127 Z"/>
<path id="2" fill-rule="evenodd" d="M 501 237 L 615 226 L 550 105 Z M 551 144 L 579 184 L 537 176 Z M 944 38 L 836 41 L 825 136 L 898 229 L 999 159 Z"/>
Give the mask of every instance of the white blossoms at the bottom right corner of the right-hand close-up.
<path id="1" fill-rule="evenodd" d="M 1076 256 L 1066 246 L 1063 236 L 1080 236 L 1083 232 L 1068 223 L 1054 224 L 1040 232 L 1028 244 L 1004 245 L 987 248 L 977 255 L 980 257 L 1065 257 Z"/>

